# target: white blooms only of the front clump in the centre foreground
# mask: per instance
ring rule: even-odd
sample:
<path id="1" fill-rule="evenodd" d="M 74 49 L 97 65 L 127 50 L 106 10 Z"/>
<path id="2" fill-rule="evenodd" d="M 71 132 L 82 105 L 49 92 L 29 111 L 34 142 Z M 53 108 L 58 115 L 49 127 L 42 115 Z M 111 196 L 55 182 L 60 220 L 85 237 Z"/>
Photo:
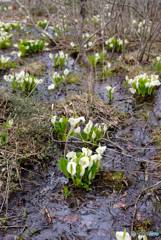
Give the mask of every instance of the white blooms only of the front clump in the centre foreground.
<path id="1" fill-rule="evenodd" d="M 76 152 L 69 152 L 66 157 L 68 158 L 69 162 L 67 165 L 67 171 L 73 176 L 76 174 L 76 166 L 81 166 L 80 176 L 83 177 L 85 173 L 85 169 L 88 168 L 88 171 L 92 168 L 93 163 L 97 163 L 97 168 L 100 165 L 100 160 L 102 158 L 102 154 L 104 153 L 106 146 L 98 147 L 96 149 L 96 153 L 92 155 L 92 151 L 88 148 L 82 148 L 82 158 L 78 159 Z M 91 173 L 92 174 L 92 173 Z M 89 174 L 89 180 L 91 179 L 92 175 Z"/>

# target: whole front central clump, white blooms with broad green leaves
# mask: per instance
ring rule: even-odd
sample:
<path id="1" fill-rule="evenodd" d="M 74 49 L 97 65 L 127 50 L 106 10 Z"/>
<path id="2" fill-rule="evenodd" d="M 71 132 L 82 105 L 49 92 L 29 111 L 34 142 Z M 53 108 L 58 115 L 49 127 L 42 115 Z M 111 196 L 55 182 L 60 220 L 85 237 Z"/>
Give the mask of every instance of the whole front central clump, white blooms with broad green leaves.
<path id="1" fill-rule="evenodd" d="M 101 152 L 103 153 L 104 151 Z M 95 178 L 96 173 L 101 167 L 100 159 L 102 156 L 99 153 L 92 155 L 90 149 L 82 148 L 82 152 L 69 152 L 66 157 L 67 159 L 60 159 L 60 169 L 73 180 L 77 187 L 85 187 L 86 190 L 89 190 L 91 181 Z"/>

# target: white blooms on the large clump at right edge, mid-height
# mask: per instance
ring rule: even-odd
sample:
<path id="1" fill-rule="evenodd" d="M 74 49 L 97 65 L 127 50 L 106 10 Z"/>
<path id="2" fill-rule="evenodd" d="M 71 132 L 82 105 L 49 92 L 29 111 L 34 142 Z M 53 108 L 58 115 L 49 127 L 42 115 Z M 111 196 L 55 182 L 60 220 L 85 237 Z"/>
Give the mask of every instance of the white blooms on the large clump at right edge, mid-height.
<path id="1" fill-rule="evenodd" d="M 128 76 L 126 76 L 126 81 L 128 82 L 128 84 L 132 86 L 132 88 L 130 88 L 129 90 L 133 94 L 137 93 L 137 90 L 141 90 L 140 85 L 143 86 L 144 84 L 145 88 L 154 88 L 155 86 L 159 86 L 161 84 L 159 81 L 159 75 L 153 74 L 148 76 L 147 73 L 140 74 L 136 76 L 134 79 L 132 78 L 129 79 Z"/>

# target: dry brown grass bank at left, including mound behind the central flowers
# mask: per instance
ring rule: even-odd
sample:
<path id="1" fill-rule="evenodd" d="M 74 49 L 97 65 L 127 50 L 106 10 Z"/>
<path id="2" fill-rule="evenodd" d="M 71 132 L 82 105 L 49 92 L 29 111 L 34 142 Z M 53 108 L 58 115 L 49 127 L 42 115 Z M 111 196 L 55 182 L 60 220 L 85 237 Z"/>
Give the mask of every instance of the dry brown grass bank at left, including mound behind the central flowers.
<path id="1" fill-rule="evenodd" d="M 21 168 L 32 165 L 41 170 L 53 151 L 58 155 L 53 143 L 51 115 L 72 117 L 84 116 L 94 122 L 105 122 L 108 126 L 117 126 L 119 118 L 114 114 L 113 106 L 104 105 L 96 96 L 71 95 L 66 100 L 54 104 L 35 103 L 32 99 L 8 94 L 0 89 L 0 131 L 7 131 L 6 144 L 0 145 L 0 186 L 1 206 L 8 203 L 9 193 L 21 188 Z M 2 129 L 3 122 L 13 119 L 8 130 Z M 50 150 L 50 151 L 49 151 Z M 44 162 L 45 160 L 45 162 Z"/>

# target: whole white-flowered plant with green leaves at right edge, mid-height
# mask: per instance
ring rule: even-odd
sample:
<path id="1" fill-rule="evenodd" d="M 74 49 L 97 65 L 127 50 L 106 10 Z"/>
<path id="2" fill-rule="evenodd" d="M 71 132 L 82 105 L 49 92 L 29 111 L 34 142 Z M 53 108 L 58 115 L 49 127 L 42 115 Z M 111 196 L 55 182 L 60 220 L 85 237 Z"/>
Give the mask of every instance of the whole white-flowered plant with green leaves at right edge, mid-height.
<path id="1" fill-rule="evenodd" d="M 152 95 L 156 92 L 156 86 L 159 86 L 161 83 L 159 81 L 158 75 L 150 75 L 148 76 L 146 73 L 136 76 L 134 79 L 129 79 L 126 76 L 126 81 L 132 88 L 129 90 L 133 94 L 142 95 Z"/>

